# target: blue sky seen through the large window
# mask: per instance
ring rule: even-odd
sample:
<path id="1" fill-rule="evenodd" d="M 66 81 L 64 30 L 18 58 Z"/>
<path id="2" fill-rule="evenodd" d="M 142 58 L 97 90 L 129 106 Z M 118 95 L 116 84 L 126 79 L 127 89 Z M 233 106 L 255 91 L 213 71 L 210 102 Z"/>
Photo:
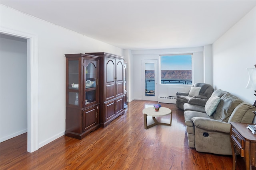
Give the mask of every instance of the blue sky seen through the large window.
<path id="1" fill-rule="evenodd" d="M 192 70 L 191 55 L 161 56 L 161 70 Z"/>

